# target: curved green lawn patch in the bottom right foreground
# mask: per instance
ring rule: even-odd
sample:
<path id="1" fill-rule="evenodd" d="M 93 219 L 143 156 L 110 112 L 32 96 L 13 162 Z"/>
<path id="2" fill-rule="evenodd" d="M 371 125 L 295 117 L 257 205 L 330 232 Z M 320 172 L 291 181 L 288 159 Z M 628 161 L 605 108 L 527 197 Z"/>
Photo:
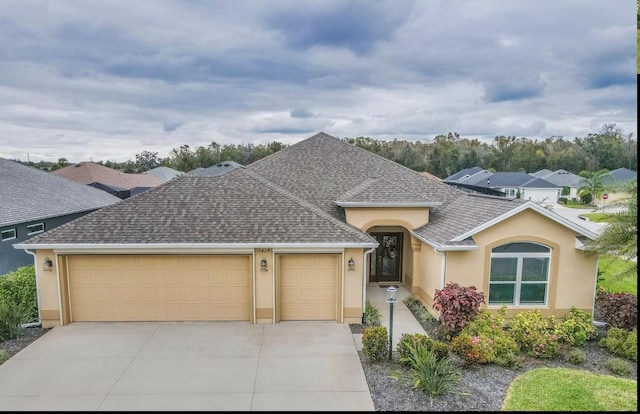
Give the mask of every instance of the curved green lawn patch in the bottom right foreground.
<path id="1" fill-rule="evenodd" d="M 583 370 L 539 368 L 513 380 L 502 411 L 637 411 L 637 384 Z"/>

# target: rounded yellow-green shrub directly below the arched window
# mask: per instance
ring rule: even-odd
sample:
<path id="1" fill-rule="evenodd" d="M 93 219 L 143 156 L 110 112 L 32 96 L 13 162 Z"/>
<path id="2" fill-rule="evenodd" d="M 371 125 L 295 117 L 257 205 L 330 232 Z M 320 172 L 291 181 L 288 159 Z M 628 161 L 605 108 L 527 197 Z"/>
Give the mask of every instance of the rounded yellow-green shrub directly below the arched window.
<path id="1" fill-rule="evenodd" d="M 538 309 L 518 313 L 509 322 L 508 330 L 527 355 L 553 358 L 558 352 L 555 318 L 543 318 Z"/>

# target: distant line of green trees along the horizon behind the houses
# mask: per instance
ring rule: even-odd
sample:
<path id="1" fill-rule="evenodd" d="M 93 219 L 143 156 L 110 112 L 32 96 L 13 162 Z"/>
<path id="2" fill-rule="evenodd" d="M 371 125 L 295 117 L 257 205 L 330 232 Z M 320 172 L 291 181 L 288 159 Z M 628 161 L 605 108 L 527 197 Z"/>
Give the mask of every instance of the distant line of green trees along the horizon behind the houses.
<path id="1" fill-rule="evenodd" d="M 582 171 L 615 170 L 621 167 L 635 171 L 638 162 L 637 141 L 633 134 L 625 134 L 615 124 L 604 124 L 597 133 L 572 140 L 561 136 L 532 140 L 500 135 L 487 143 L 451 132 L 416 141 L 377 140 L 364 136 L 343 139 L 415 171 L 427 171 L 440 178 L 476 166 L 491 171 L 531 173 L 541 169 L 564 169 L 580 174 Z M 98 164 L 129 173 L 144 172 L 158 166 L 188 172 L 222 161 L 248 165 L 286 147 L 286 144 L 278 141 L 261 145 L 219 145 L 214 141 L 196 148 L 181 145 L 172 149 L 167 157 L 145 150 L 132 160 L 120 163 L 98 161 Z M 53 170 L 68 165 L 68 161 L 61 158 L 57 163 L 48 165 L 30 164 Z"/>

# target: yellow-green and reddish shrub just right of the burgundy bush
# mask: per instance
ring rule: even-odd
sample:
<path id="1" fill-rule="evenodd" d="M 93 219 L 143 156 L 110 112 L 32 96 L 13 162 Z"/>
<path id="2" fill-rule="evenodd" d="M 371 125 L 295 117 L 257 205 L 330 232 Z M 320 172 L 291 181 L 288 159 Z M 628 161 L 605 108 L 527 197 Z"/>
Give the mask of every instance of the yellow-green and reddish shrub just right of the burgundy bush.
<path id="1" fill-rule="evenodd" d="M 520 347 L 504 329 L 506 313 L 507 307 L 504 305 L 495 314 L 486 309 L 480 310 L 462 329 L 461 334 L 481 338 L 480 344 L 482 345 L 488 342 L 487 339 L 490 339 L 492 352 L 495 356 L 490 362 L 514 367 L 518 364 L 517 355 L 520 352 Z"/>

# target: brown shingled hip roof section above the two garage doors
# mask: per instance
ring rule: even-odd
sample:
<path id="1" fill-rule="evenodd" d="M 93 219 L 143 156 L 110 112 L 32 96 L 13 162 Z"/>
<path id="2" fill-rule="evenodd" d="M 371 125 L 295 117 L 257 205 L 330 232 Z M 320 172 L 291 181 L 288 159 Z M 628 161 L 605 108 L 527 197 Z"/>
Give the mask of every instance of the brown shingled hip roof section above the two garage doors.
<path id="1" fill-rule="evenodd" d="M 371 236 L 255 173 L 181 176 L 25 244 L 358 243 Z"/>

